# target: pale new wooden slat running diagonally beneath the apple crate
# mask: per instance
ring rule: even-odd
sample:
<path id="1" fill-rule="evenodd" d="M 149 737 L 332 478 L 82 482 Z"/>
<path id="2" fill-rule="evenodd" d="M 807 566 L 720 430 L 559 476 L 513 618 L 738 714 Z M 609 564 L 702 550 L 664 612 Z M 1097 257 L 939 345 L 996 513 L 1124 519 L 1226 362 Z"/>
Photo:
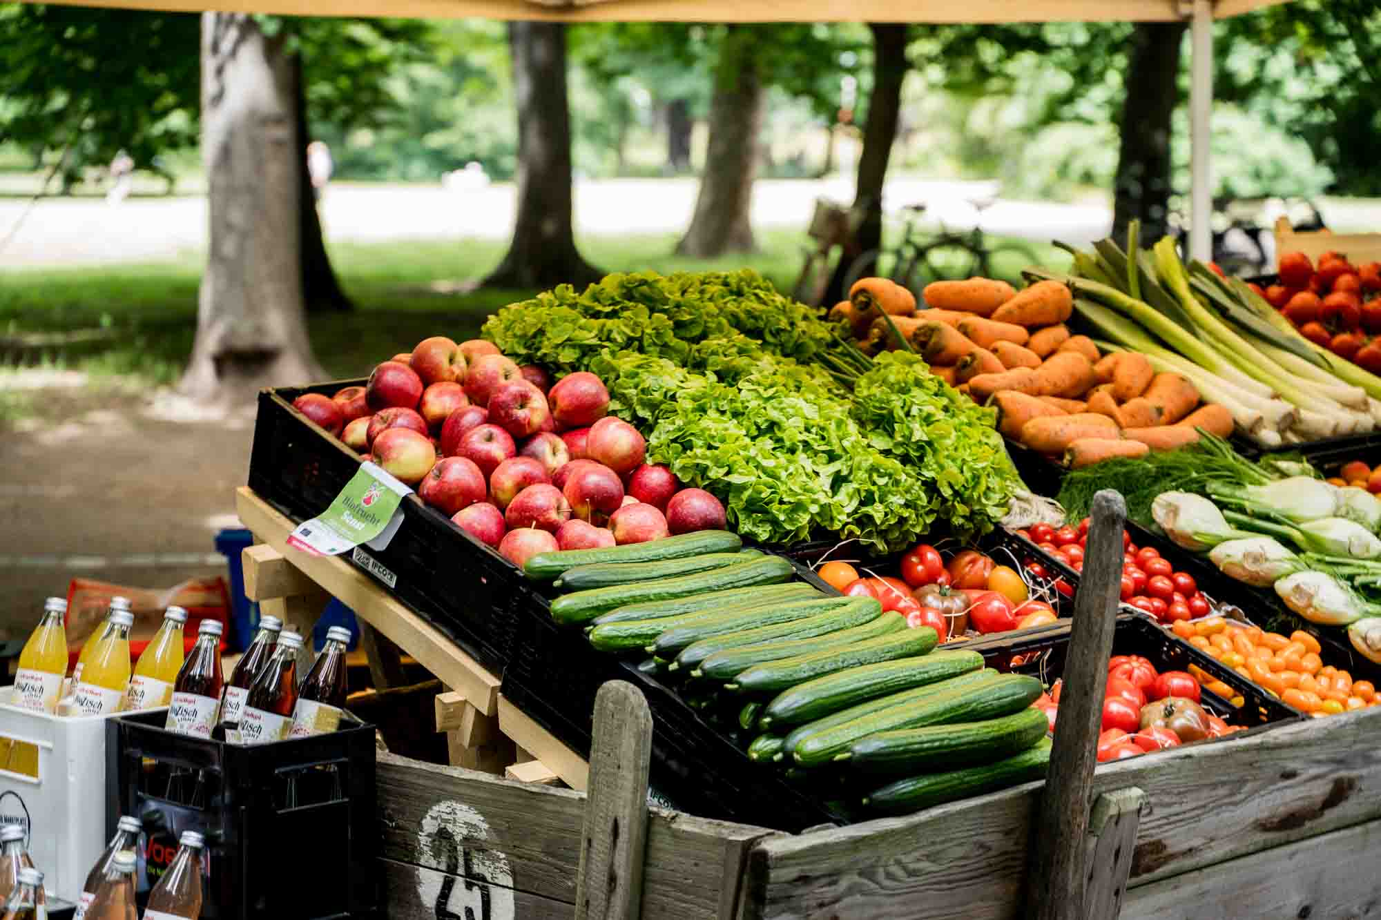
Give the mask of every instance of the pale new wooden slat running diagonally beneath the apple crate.
<path id="1" fill-rule="evenodd" d="M 398 642 L 423 667 L 446 685 L 463 692 L 465 699 L 486 716 L 497 711 L 499 677 L 460 651 L 441 630 L 417 616 L 345 559 L 289 550 L 287 535 L 293 532 L 293 522 L 269 507 L 251 489 L 246 486 L 236 489 L 235 510 L 244 526 L 258 539 L 282 553 L 304 575 L 355 611 L 356 616 Z"/>

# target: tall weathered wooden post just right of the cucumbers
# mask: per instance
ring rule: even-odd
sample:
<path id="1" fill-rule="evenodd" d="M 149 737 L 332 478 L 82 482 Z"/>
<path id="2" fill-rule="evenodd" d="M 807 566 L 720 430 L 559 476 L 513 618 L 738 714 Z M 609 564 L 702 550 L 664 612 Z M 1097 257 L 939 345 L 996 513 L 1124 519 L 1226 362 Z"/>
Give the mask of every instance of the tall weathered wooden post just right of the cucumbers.
<path id="1" fill-rule="evenodd" d="M 1121 588 L 1127 519 L 1121 495 L 1101 490 L 1094 496 L 1090 518 L 1065 660 L 1059 725 L 1034 825 L 1040 832 L 1034 834 L 1026 872 L 1026 916 L 1033 920 L 1083 920 L 1088 916 L 1084 912 L 1084 834 Z"/>

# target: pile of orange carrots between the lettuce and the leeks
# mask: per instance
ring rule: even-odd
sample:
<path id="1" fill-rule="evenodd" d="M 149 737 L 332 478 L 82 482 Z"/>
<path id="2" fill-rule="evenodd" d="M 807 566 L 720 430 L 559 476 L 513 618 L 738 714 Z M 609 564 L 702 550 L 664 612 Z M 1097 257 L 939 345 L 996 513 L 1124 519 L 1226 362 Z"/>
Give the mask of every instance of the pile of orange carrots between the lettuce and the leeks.
<path id="1" fill-rule="evenodd" d="M 1156 373 L 1135 352 L 1102 355 L 1073 334 L 1065 325 L 1073 296 L 1059 282 L 1018 291 L 990 278 L 946 280 L 927 285 L 921 298 L 917 309 L 905 287 L 863 278 L 830 318 L 847 319 L 869 354 L 895 349 L 903 337 L 931 373 L 996 406 L 1005 437 L 1072 468 L 1174 450 L 1197 441 L 1199 428 L 1232 434 L 1232 413 L 1200 406 L 1197 388 L 1179 374 Z"/>

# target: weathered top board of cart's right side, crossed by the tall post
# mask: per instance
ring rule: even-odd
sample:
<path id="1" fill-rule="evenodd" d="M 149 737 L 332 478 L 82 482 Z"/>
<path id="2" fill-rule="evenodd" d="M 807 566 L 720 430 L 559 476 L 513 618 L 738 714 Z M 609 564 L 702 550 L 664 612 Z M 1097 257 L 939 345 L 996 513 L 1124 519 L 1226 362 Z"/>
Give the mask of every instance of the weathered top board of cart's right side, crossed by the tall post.
<path id="1" fill-rule="evenodd" d="M 1381 710 L 1186 745 L 1094 774 L 1094 792 L 1137 786 L 1131 890 L 1381 818 Z M 746 914 L 1011 917 L 1043 783 L 840 830 L 776 837 L 750 855 Z"/>

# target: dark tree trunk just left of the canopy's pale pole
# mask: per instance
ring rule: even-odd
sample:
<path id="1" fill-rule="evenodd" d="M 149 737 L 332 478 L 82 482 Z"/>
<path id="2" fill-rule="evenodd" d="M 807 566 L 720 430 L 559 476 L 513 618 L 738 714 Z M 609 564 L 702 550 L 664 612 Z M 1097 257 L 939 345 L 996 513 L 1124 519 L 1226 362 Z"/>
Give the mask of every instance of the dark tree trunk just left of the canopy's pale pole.
<path id="1" fill-rule="evenodd" d="M 1131 35 L 1121 146 L 1113 185 L 1113 235 L 1141 220 L 1141 239 L 1157 240 L 1168 228 L 1171 116 L 1179 101 L 1179 46 L 1184 22 L 1138 22 Z"/>

